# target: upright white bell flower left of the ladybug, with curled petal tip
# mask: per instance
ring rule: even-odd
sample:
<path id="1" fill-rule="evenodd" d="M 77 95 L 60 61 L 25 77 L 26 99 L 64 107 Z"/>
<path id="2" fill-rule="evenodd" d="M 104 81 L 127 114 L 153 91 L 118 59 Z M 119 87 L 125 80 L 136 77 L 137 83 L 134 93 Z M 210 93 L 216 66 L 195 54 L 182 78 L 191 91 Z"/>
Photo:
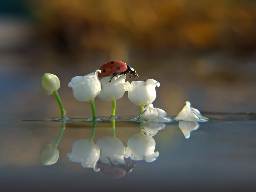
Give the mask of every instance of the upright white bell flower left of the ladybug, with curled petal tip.
<path id="1" fill-rule="evenodd" d="M 68 87 L 72 87 L 73 95 L 76 100 L 90 101 L 97 97 L 101 90 L 98 72 L 101 71 L 98 69 L 95 73 L 90 73 L 85 76 L 76 76 L 71 79 Z"/>

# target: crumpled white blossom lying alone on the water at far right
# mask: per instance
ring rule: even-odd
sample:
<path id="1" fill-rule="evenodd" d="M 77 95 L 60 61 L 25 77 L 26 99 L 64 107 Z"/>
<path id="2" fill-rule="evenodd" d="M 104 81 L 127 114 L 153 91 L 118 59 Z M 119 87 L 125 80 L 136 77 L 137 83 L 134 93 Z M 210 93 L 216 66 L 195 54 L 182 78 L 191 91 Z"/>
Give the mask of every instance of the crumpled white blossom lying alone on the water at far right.
<path id="1" fill-rule="evenodd" d="M 208 118 L 202 116 L 197 109 L 190 107 L 190 102 L 186 101 L 185 107 L 175 117 L 175 120 L 204 122 L 208 121 Z"/>

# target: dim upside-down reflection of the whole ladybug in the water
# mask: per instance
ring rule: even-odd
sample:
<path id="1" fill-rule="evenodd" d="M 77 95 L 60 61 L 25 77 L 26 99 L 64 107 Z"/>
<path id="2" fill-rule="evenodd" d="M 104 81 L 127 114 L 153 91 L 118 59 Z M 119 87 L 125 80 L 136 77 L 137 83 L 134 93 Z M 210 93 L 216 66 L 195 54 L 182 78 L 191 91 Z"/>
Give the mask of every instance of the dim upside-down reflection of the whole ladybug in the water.
<path id="1" fill-rule="evenodd" d="M 128 162 L 127 165 L 114 164 L 111 161 L 110 161 L 110 164 L 103 164 L 100 161 L 98 161 L 97 166 L 98 168 L 100 168 L 100 172 L 103 175 L 111 178 L 118 178 L 130 173 L 134 169 L 136 164 L 137 162 L 134 162 L 132 164 Z"/>

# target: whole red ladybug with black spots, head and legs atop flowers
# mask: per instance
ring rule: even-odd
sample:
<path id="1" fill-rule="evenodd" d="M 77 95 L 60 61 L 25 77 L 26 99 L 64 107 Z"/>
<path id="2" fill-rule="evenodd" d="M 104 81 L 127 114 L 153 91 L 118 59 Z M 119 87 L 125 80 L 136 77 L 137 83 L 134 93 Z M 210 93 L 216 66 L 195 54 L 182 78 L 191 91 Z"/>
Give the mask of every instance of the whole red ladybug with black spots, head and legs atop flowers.
<path id="1" fill-rule="evenodd" d="M 99 73 L 99 77 L 104 77 L 107 75 L 113 75 L 111 79 L 108 81 L 108 83 L 114 78 L 116 75 L 125 75 L 129 74 L 129 78 L 139 77 L 139 75 L 136 73 L 136 70 L 132 68 L 130 65 L 127 65 L 126 63 L 122 61 L 108 61 L 104 65 L 100 67 L 101 73 Z"/>

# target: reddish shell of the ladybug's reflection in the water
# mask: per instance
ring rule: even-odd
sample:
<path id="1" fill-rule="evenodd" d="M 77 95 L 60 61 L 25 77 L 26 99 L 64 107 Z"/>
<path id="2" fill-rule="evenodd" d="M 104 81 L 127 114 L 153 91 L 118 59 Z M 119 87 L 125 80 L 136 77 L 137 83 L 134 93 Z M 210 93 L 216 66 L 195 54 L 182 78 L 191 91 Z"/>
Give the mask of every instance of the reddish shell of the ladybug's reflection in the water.
<path id="1" fill-rule="evenodd" d="M 126 171 L 120 167 L 111 167 L 100 162 L 98 162 L 97 165 L 98 168 L 100 168 L 100 172 L 107 177 L 118 178 L 126 174 Z"/>

